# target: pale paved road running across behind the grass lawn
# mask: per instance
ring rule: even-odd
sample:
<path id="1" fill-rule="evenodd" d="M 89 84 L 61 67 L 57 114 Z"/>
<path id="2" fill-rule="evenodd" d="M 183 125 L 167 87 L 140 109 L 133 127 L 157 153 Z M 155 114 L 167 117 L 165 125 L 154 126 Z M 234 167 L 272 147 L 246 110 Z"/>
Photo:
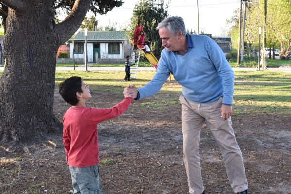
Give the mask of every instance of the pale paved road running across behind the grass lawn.
<path id="1" fill-rule="evenodd" d="M 234 71 L 257 71 L 257 68 L 232 68 Z M 0 67 L 3 71 L 4 67 Z M 73 71 L 73 67 L 56 67 L 57 71 Z M 85 67 L 76 67 L 75 70 L 85 71 Z M 138 71 L 155 71 L 154 67 L 139 67 Z M 88 71 L 124 71 L 124 67 L 88 67 Z M 268 68 L 265 71 L 284 71 L 291 73 L 291 68 Z"/>

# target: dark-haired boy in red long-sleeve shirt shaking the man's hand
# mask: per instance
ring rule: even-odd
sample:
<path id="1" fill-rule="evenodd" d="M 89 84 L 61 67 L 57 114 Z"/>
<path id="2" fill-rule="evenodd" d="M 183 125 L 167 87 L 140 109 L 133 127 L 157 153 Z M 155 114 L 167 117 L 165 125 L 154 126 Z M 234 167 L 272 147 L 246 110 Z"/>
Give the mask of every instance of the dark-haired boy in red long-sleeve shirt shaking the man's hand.
<path id="1" fill-rule="evenodd" d="M 99 181 L 99 146 L 97 124 L 115 118 L 133 101 L 133 86 L 124 88 L 124 99 L 112 108 L 86 108 L 91 98 L 81 77 L 73 76 L 59 85 L 59 92 L 72 107 L 63 118 L 63 144 L 69 164 L 74 194 L 103 194 Z"/>

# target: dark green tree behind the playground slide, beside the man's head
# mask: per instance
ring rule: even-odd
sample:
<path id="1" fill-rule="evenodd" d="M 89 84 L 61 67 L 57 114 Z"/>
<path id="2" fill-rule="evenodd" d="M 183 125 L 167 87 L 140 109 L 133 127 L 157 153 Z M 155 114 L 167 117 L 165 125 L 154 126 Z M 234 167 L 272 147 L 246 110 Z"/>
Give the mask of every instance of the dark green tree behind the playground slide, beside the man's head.
<path id="1" fill-rule="evenodd" d="M 164 0 L 140 0 L 135 4 L 131 17 L 130 30 L 127 33 L 129 40 L 132 39 L 138 21 L 143 24 L 146 38 L 150 41 L 151 52 L 159 58 L 162 52 L 162 40 L 156 30 L 158 23 L 169 16 L 168 5 L 164 6 Z"/>

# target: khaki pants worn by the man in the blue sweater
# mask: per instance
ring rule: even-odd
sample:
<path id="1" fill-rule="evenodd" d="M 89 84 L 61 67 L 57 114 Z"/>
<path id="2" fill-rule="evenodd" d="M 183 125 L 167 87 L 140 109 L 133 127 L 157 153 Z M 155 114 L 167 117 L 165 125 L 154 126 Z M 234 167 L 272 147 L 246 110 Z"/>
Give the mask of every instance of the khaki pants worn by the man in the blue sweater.
<path id="1" fill-rule="evenodd" d="M 204 191 L 199 156 L 200 131 L 204 121 L 218 143 L 233 191 L 236 193 L 246 190 L 248 184 L 242 152 L 231 127 L 231 118 L 223 121 L 221 117 L 222 97 L 209 104 L 195 104 L 181 95 L 180 101 L 182 104 L 183 153 L 189 192 L 201 194 Z"/>

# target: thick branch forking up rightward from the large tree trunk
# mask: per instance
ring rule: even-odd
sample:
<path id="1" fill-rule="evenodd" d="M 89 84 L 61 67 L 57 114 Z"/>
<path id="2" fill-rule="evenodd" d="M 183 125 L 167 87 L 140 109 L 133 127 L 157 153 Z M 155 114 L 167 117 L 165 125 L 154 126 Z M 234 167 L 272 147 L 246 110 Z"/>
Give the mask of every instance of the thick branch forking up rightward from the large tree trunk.
<path id="1" fill-rule="evenodd" d="M 71 13 L 63 22 L 56 24 L 55 30 L 63 44 L 78 30 L 83 22 L 92 0 L 76 0 Z"/>

